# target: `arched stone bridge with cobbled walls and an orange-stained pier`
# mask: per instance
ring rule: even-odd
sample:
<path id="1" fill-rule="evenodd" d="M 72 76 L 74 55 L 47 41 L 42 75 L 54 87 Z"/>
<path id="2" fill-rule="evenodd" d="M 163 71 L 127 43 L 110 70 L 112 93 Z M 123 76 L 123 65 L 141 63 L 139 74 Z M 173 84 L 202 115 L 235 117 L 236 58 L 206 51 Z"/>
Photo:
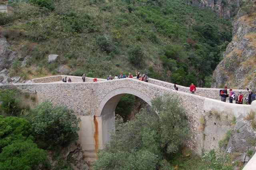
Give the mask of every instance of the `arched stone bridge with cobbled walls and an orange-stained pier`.
<path id="1" fill-rule="evenodd" d="M 93 78 L 86 77 L 86 82 L 82 82 L 81 77 L 68 76 L 72 83 L 64 83 L 61 81 L 63 77 L 65 75 L 33 79 L 33 83 L 27 84 L 1 85 L 0 89 L 16 88 L 26 93 L 36 93 L 39 103 L 50 100 L 54 105 L 73 109 L 81 119 L 79 141 L 89 162 L 95 160 L 96 150 L 103 149 L 104 144 L 108 143 L 110 132 L 115 129 L 116 106 L 126 94 L 140 97 L 149 105 L 158 95 L 178 95 L 186 110 L 190 128 L 191 137 L 187 145 L 198 154 L 203 149 L 218 148 L 218 141 L 232 128 L 230 122 L 233 117 L 256 111 L 256 101 L 252 105 L 221 102 L 218 99 L 220 89 L 197 88 L 196 94 L 190 94 L 189 87 L 177 85 L 179 91 L 174 91 L 172 83 L 156 79 L 149 79 L 148 83 L 130 78 L 92 82 Z M 205 125 L 202 125 L 203 119 Z"/>

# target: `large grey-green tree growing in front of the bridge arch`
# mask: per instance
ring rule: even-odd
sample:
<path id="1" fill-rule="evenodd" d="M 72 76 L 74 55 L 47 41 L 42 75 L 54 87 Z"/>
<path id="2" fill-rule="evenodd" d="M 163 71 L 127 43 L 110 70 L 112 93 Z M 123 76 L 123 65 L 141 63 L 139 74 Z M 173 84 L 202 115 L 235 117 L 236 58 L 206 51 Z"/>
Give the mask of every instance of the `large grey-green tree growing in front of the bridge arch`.
<path id="1" fill-rule="evenodd" d="M 186 113 L 175 96 L 157 97 L 152 101 L 152 110 L 158 116 L 145 110 L 126 123 L 116 122 L 116 132 L 103 151 L 98 152 L 95 170 L 155 170 L 166 168 L 169 154 L 178 151 L 188 136 Z M 170 165 L 169 165 L 170 166 Z"/>

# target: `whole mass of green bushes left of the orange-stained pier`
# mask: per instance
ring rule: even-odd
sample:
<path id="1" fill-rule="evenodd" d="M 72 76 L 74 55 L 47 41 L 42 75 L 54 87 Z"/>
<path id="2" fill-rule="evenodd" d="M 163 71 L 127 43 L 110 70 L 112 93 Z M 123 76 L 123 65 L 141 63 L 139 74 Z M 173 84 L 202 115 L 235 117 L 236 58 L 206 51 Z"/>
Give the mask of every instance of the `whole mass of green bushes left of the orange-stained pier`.
<path id="1" fill-rule="evenodd" d="M 54 152 L 78 139 L 79 120 L 72 110 L 46 101 L 20 111 L 18 96 L 23 93 L 4 90 L 0 94 L 0 170 L 67 168 L 66 160 L 51 167 L 45 149 Z"/>

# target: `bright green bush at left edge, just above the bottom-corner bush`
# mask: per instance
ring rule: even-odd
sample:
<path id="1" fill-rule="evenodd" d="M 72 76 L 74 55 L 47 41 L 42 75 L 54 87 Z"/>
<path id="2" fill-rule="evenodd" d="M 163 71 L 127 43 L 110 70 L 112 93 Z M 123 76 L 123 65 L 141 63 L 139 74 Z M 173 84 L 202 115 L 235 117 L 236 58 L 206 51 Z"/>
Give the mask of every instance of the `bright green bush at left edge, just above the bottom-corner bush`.
<path id="1" fill-rule="evenodd" d="M 27 120 L 18 117 L 0 117 L 0 152 L 14 140 L 27 138 L 32 138 L 32 127 Z"/>

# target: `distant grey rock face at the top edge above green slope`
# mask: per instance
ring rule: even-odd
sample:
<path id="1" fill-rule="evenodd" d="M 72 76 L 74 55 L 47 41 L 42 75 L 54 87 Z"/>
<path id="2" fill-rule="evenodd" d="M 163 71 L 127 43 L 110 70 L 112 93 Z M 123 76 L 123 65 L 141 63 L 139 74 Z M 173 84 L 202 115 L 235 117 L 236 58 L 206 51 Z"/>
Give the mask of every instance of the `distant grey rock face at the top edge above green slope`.
<path id="1" fill-rule="evenodd" d="M 186 0 L 186 2 L 201 9 L 210 8 L 226 19 L 234 17 L 239 8 L 239 0 Z"/>

